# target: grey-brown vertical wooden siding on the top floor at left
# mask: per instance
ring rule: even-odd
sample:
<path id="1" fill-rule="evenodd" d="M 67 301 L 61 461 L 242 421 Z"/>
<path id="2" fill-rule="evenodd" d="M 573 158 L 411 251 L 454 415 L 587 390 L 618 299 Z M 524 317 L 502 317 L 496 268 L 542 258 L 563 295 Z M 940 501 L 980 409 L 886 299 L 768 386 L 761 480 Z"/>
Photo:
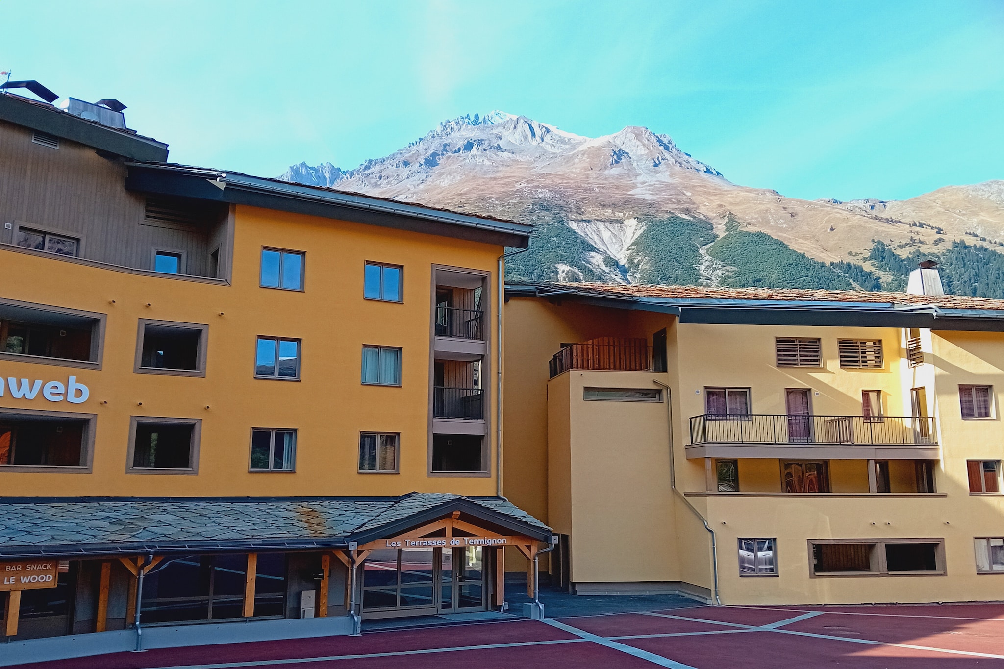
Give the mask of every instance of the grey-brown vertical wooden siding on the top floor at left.
<path id="1" fill-rule="evenodd" d="M 147 225 L 146 199 L 126 191 L 120 161 L 66 139 L 50 148 L 31 136 L 0 121 L 0 219 L 13 224 L 0 229 L 0 242 L 13 244 L 19 227 L 61 233 L 80 240 L 81 258 L 143 270 L 153 269 L 155 249 L 182 252 L 186 274 L 196 276 L 208 276 L 209 254 L 221 247 L 221 270 L 229 270 L 225 212 L 207 226 Z"/>

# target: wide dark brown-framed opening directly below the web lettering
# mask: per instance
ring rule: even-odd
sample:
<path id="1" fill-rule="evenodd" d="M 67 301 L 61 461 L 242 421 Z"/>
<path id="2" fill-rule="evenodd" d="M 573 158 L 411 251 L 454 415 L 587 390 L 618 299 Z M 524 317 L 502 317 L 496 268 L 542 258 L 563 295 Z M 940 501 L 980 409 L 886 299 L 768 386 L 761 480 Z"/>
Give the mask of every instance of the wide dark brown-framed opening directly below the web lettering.
<path id="1" fill-rule="evenodd" d="M 0 411 L 0 468 L 86 467 L 92 435 L 88 414 Z"/>

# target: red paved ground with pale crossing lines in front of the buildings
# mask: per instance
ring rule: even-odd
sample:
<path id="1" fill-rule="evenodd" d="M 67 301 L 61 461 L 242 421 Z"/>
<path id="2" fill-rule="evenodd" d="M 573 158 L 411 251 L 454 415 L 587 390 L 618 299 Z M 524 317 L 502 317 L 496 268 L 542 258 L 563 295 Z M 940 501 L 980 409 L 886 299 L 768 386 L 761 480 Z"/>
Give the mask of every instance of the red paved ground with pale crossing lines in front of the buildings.
<path id="1" fill-rule="evenodd" d="M 1004 668 L 1004 605 L 694 607 L 118 653 L 23 665 L 23 669 L 392 665 Z"/>

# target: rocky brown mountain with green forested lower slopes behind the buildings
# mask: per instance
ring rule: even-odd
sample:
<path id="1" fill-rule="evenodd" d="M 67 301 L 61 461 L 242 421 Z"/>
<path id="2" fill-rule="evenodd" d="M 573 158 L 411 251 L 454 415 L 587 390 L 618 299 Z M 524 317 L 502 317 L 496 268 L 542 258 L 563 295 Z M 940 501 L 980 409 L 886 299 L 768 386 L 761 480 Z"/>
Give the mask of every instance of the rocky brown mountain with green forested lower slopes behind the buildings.
<path id="1" fill-rule="evenodd" d="M 590 138 L 501 111 L 281 179 L 531 224 L 512 280 L 898 291 L 931 259 L 946 291 L 1004 299 L 1004 181 L 797 200 L 732 184 L 644 127 Z"/>

